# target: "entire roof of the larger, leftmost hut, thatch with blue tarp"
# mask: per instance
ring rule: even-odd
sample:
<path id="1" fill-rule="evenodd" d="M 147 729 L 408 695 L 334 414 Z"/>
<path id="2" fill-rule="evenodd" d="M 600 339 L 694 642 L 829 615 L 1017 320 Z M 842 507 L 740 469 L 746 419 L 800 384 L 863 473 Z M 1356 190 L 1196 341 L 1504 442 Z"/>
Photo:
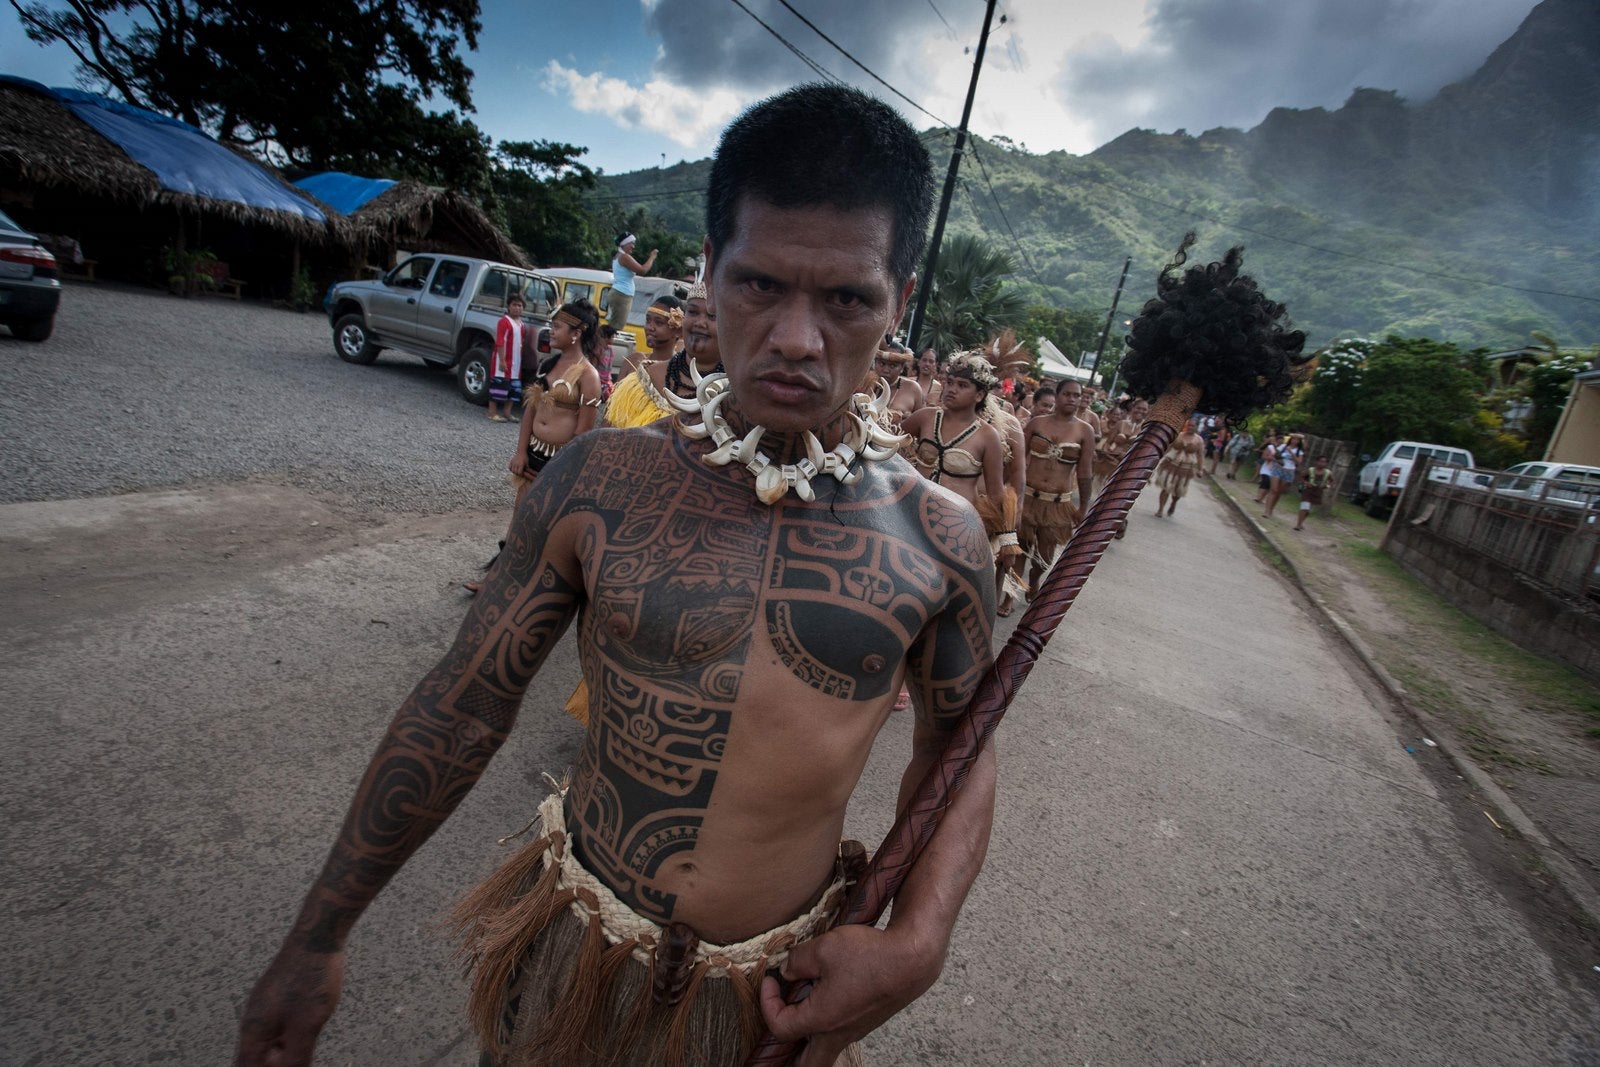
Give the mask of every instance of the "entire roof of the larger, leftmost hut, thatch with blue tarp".
<path id="1" fill-rule="evenodd" d="M 0 187 L 11 198 L 45 192 L 139 211 L 168 206 L 314 245 L 344 237 L 334 214 L 194 126 L 6 75 L 0 75 Z"/>

